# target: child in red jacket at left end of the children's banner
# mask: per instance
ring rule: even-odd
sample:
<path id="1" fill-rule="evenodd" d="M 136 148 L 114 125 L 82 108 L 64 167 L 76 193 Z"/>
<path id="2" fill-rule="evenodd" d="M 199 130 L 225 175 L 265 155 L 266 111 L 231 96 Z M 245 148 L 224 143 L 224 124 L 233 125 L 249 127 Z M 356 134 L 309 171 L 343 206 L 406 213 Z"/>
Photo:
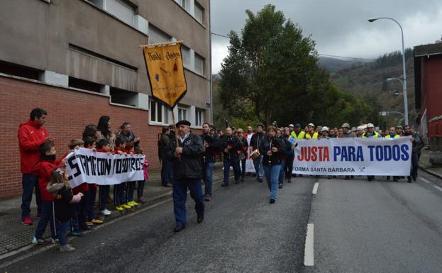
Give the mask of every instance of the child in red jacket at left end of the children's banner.
<path id="1" fill-rule="evenodd" d="M 57 151 L 55 146 L 51 141 L 45 141 L 39 147 L 40 159 L 37 164 L 33 167 L 33 174 L 38 176 L 38 188 L 40 189 L 42 204 L 42 216 L 40 221 L 38 221 L 37 228 L 35 228 L 34 238 L 31 243 L 39 245 L 45 243 L 43 240 L 43 233 L 45 233 L 46 226 L 48 222 L 50 224 L 50 233 L 52 242 L 57 243 L 57 234 L 55 233 L 55 220 L 53 216 L 53 201 L 54 196 L 48 192 L 46 186 L 49 184 L 50 174 L 58 165 L 65 164 L 65 160 L 56 160 L 55 155 Z"/>

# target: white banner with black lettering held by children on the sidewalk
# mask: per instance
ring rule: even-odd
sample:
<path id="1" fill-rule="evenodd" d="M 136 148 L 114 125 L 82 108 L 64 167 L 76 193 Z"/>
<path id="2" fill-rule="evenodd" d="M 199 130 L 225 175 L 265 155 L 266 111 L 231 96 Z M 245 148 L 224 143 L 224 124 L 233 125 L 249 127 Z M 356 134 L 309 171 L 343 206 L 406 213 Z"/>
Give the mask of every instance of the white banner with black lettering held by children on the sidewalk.
<path id="1" fill-rule="evenodd" d="M 66 157 L 70 186 L 79 184 L 114 185 L 144 179 L 144 155 L 109 155 L 79 148 Z"/>

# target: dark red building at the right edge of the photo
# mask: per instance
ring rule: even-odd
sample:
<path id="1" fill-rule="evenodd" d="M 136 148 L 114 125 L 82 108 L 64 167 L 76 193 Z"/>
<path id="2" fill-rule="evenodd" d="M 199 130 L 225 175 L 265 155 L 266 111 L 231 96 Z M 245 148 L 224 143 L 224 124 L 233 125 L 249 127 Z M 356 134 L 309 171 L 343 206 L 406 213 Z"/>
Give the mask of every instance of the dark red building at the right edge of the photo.
<path id="1" fill-rule="evenodd" d="M 419 130 L 430 145 L 430 161 L 442 164 L 442 41 L 414 47 L 414 78 Z"/>

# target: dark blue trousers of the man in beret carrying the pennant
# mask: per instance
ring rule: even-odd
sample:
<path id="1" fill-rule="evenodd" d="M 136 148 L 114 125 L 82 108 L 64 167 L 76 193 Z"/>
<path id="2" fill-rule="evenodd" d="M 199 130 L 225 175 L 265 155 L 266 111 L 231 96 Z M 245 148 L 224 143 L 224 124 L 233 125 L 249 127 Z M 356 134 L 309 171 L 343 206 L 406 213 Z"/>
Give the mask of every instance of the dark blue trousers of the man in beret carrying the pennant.
<path id="1" fill-rule="evenodd" d="M 195 211 L 197 216 L 204 216 L 204 196 L 201 187 L 201 180 L 180 179 L 173 182 L 173 212 L 177 226 L 186 226 L 186 201 L 187 188 L 190 196 L 195 201 Z"/>

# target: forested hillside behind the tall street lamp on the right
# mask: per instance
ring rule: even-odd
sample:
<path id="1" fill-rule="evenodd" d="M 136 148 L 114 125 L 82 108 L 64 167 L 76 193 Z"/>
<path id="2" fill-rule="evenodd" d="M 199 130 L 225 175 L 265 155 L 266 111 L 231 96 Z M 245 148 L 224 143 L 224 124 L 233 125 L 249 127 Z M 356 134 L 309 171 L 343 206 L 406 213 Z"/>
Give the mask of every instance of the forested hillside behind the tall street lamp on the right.
<path id="1" fill-rule="evenodd" d="M 407 64 L 407 98 L 409 106 L 409 122 L 414 123 L 416 110 L 414 107 L 414 62 L 413 50 L 405 52 Z M 328 70 L 330 72 L 330 70 Z M 388 78 L 402 79 L 402 54 L 391 52 L 378 57 L 375 62 L 353 66 L 336 73 L 331 73 L 331 80 L 338 89 L 363 99 L 375 111 L 398 111 L 404 113 L 404 97 L 402 84 L 397 80 L 387 81 Z M 402 121 L 398 114 L 388 115 L 380 125 L 392 126 Z"/>

